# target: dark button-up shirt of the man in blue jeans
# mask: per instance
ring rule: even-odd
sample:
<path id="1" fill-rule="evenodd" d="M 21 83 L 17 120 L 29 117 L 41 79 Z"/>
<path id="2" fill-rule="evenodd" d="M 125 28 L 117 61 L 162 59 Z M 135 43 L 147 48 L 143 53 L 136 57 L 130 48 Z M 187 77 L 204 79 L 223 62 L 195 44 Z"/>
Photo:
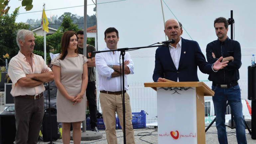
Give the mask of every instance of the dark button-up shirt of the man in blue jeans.
<path id="1" fill-rule="evenodd" d="M 206 57 L 209 63 L 214 63 L 221 56 L 223 56 L 222 61 L 229 61 L 228 65 L 224 69 L 210 74 L 208 79 L 216 84 L 229 84 L 238 81 L 238 69 L 242 65 L 239 42 L 226 36 L 224 41 L 217 39 L 207 44 Z"/>

